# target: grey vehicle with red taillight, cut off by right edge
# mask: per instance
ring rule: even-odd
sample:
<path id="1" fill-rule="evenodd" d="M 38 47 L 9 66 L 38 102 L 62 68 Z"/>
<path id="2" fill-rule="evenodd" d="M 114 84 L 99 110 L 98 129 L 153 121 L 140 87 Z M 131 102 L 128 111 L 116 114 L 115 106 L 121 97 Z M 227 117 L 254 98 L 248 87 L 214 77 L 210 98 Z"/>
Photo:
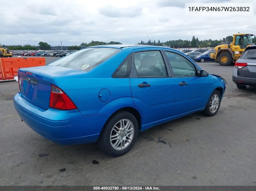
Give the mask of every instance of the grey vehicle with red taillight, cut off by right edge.
<path id="1" fill-rule="evenodd" d="M 232 80 L 239 89 L 256 87 L 256 45 L 247 47 L 236 61 Z"/>

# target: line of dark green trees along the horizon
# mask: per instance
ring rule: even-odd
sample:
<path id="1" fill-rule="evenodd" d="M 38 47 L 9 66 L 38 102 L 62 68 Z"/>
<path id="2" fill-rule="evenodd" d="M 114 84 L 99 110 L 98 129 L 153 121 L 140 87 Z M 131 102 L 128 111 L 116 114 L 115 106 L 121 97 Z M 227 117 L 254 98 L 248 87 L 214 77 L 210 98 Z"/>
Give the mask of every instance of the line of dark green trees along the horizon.
<path id="1" fill-rule="evenodd" d="M 148 40 L 148 42 L 144 42 L 141 40 L 140 43 L 137 44 L 143 44 L 143 45 L 154 45 L 154 46 L 169 46 L 171 48 L 200 48 L 200 47 L 215 47 L 220 43 L 223 42 L 232 42 L 233 37 L 228 36 L 226 38 L 223 38 L 223 40 L 199 40 L 198 38 L 192 37 L 191 40 L 168 40 L 166 42 L 160 42 L 158 40 L 157 42 Z M 252 39 L 252 43 L 256 43 L 256 38 Z M 81 43 L 80 46 L 68 46 L 68 50 L 80 50 L 84 47 L 90 47 L 90 46 L 99 46 L 99 45 L 108 45 L 108 44 L 122 44 L 120 42 L 110 41 L 110 42 L 103 42 L 103 41 L 91 41 L 90 43 Z M 51 50 L 51 46 L 46 42 L 39 42 L 39 46 L 32 46 L 30 44 L 26 44 L 24 46 L 17 45 L 17 46 L 8 46 L 8 49 L 10 50 Z"/>

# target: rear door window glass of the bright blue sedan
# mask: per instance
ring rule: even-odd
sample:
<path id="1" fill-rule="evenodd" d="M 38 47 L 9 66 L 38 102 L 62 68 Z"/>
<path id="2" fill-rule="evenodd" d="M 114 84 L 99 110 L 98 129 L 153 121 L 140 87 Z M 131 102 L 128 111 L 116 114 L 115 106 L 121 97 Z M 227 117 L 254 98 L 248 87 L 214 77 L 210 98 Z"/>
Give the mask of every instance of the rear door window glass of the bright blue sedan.
<path id="1" fill-rule="evenodd" d="M 160 51 L 144 51 L 134 53 L 134 64 L 138 77 L 168 76 Z"/>

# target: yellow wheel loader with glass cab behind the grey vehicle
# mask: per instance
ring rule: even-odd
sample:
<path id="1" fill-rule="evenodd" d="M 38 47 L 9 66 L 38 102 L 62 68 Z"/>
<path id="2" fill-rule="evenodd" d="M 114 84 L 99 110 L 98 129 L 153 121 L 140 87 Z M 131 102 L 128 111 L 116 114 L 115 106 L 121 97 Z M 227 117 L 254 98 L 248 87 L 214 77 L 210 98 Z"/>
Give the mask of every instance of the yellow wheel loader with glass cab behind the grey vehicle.
<path id="1" fill-rule="evenodd" d="M 253 34 L 238 33 L 233 34 L 233 42 L 220 43 L 214 48 L 214 52 L 210 54 L 210 58 L 218 61 L 222 66 L 231 65 L 236 62 L 246 47 L 252 45 Z M 255 37 L 255 36 L 254 36 Z"/>

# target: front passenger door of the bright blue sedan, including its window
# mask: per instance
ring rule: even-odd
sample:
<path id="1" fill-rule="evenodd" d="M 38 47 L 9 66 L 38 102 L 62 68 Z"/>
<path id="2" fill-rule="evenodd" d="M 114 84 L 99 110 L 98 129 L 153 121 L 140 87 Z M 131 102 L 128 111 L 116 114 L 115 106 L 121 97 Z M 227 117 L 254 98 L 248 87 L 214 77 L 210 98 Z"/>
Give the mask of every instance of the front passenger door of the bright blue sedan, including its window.
<path id="1" fill-rule="evenodd" d="M 169 60 L 176 102 L 173 116 L 193 112 L 205 107 L 208 87 L 208 77 L 199 77 L 198 66 L 178 52 L 165 51 L 166 57 L 176 56 L 177 59 Z"/>

